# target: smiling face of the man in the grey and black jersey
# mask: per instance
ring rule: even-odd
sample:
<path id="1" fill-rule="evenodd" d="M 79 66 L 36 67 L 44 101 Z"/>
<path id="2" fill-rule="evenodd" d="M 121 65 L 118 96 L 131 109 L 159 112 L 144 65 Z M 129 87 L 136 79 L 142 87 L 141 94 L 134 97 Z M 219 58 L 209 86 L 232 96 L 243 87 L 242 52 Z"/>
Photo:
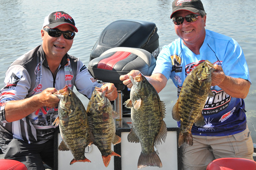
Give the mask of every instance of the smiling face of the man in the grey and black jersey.
<path id="1" fill-rule="evenodd" d="M 74 32 L 73 28 L 68 24 L 58 26 L 55 29 Z M 43 50 L 47 58 L 62 58 L 73 44 L 73 39 L 65 39 L 63 34 L 60 37 L 51 37 L 47 31 L 41 30 L 41 37 L 43 39 Z"/>

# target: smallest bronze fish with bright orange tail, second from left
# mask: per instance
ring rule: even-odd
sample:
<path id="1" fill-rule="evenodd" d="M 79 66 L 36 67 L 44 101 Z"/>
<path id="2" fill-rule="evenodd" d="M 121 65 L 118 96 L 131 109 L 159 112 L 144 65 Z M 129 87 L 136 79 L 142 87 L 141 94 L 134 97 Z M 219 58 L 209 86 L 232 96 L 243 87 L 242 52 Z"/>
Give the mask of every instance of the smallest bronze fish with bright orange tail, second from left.
<path id="1" fill-rule="evenodd" d="M 121 157 L 111 148 L 112 143 L 120 143 L 121 138 L 115 134 L 114 118 L 118 117 L 118 113 L 113 111 L 111 102 L 105 97 L 107 89 L 95 87 L 87 106 L 93 144 L 100 150 L 105 167 L 108 167 L 111 156 Z"/>

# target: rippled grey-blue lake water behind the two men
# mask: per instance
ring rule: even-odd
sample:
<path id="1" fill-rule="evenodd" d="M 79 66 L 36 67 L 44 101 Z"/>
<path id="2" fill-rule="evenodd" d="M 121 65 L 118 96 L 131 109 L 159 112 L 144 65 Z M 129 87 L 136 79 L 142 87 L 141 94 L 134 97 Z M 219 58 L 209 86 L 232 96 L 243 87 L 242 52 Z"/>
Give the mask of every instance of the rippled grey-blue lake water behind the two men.
<path id="1" fill-rule="evenodd" d="M 207 13 L 206 29 L 225 34 L 238 41 L 242 47 L 252 85 L 245 99 L 247 121 L 256 143 L 256 54 L 255 0 L 202 0 Z M 170 19 L 172 0 L 0 0 L 0 88 L 4 86 L 5 71 L 19 56 L 42 43 L 40 30 L 46 15 L 65 11 L 76 23 L 79 32 L 68 52 L 88 65 L 91 49 L 101 31 L 118 19 L 137 19 L 154 22 L 158 28 L 160 49 L 177 38 Z M 78 94 L 87 105 L 88 99 Z M 176 127 L 171 109 L 177 100 L 177 88 L 169 80 L 159 93 L 166 103 L 166 124 Z"/>

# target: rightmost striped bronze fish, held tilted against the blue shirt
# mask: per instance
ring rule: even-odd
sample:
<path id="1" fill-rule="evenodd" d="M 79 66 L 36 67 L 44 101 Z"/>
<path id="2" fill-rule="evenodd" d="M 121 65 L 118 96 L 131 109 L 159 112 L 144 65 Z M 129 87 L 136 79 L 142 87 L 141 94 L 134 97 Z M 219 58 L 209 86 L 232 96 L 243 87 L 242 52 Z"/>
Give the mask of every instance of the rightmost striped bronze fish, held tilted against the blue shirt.
<path id="1" fill-rule="evenodd" d="M 207 97 L 213 97 L 211 91 L 211 73 L 215 71 L 208 60 L 193 69 L 184 80 L 179 98 L 172 108 L 172 118 L 181 121 L 178 146 L 187 143 L 193 145 L 191 129 L 193 124 L 205 124 L 202 110 Z"/>

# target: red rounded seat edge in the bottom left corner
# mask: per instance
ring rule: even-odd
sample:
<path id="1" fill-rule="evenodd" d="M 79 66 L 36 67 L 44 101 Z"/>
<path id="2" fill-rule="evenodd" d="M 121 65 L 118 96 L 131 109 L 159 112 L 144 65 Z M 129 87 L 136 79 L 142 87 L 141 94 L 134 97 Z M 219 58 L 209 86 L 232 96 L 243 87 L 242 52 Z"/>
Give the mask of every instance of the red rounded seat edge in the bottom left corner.
<path id="1" fill-rule="evenodd" d="M 27 167 L 17 160 L 0 159 L 0 170 L 28 170 Z"/>

